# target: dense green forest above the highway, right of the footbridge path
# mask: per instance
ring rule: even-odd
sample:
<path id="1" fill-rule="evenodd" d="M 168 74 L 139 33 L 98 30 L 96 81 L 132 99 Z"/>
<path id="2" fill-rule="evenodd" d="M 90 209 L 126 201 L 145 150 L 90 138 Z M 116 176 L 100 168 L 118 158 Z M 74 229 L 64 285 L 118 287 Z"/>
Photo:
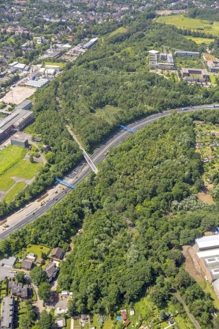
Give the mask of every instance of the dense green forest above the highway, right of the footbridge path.
<path id="1" fill-rule="evenodd" d="M 99 38 L 60 80 L 62 113 L 92 151 L 117 130 L 120 123 L 169 108 L 218 101 L 218 88 L 165 79 L 149 72 L 150 49 L 203 50 L 186 40 L 177 28 L 152 23 L 144 14 L 125 26 L 126 31 Z"/>

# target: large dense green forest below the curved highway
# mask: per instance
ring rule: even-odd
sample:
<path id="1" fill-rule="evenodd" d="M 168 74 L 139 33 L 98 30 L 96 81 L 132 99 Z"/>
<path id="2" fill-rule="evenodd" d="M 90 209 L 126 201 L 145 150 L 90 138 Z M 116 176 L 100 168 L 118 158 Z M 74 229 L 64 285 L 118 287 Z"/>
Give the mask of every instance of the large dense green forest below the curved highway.
<path id="1" fill-rule="evenodd" d="M 0 241 L 1 256 L 29 243 L 68 250 L 73 239 L 58 278 L 60 290 L 73 291 L 71 314 L 114 313 L 148 287 L 162 309 L 173 286 L 201 326 L 212 328 L 211 297 L 184 271 L 181 254 L 182 245 L 218 226 L 219 193 L 216 206 L 195 197 L 203 186 L 203 165 L 194 149 L 194 119 L 219 123 L 219 114 L 172 114 L 129 136 L 110 151 L 97 176 L 91 174 L 46 215 Z M 183 202 L 180 210 L 176 202 Z"/>

